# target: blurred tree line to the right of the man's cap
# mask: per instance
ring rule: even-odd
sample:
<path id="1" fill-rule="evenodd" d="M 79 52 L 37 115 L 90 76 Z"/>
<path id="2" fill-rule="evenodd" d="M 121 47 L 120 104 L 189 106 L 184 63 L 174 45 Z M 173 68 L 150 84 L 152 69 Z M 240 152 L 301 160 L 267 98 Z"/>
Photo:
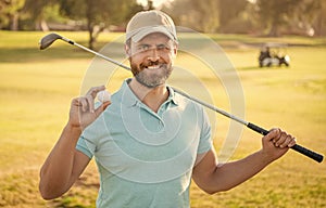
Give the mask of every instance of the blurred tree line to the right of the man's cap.
<path id="1" fill-rule="evenodd" d="M 323 0 L 174 0 L 163 10 L 203 32 L 326 35 Z"/>

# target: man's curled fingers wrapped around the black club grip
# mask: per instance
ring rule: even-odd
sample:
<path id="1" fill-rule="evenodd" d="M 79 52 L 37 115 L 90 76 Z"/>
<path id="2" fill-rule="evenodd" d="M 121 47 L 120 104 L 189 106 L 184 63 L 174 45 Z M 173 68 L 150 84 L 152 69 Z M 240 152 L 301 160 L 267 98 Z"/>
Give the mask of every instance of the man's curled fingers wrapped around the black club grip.
<path id="1" fill-rule="evenodd" d="M 280 129 L 272 129 L 268 134 L 271 138 L 269 140 L 276 147 L 285 148 L 296 144 L 296 139 Z"/>

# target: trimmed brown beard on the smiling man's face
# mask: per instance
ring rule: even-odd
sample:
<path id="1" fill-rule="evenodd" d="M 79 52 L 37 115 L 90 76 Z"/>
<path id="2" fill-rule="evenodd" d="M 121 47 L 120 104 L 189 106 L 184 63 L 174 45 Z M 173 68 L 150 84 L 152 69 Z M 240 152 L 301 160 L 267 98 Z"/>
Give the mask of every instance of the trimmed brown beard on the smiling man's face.
<path id="1" fill-rule="evenodd" d="M 149 69 L 151 66 L 160 66 L 159 68 Z M 172 63 L 146 62 L 139 66 L 130 60 L 130 67 L 136 80 L 147 88 L 155 88 L 165 83 L 172 74 Z M 153 72 L 150 72 L 153 70 Z"/>

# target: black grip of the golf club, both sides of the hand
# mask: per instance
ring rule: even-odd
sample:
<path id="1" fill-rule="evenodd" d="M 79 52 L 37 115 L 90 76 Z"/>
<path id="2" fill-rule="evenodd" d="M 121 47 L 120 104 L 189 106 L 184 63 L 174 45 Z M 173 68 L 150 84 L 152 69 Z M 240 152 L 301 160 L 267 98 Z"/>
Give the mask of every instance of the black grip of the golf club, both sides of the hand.
<path id="1" fill-rule="evenodd" d="M 259 132 L 260 134 L 263 134 L 263 135 L 266 135 L 269 131 L 254 125 L 254 123 L 251 123 L 251 122 L 248 122 L 247 127 L 255 132 Z M 324 159 L 324 156 L 318 154 L 318 153 L 315 153 L 311 150 L 308 150 L 299 144 L 296 144 L 294 146 L 291 147 L 292 150 L 297 151 L 298 153 L 301 153 L 318 162 L 322 162 L 323 159 Z"/>

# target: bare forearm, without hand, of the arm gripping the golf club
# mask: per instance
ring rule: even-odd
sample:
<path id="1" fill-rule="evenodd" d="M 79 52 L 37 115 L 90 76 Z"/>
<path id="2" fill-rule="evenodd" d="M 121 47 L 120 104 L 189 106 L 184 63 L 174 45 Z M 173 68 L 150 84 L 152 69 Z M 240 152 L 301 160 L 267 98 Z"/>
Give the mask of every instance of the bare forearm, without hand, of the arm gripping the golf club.
<path id="1" fill-rule="evenodd" d="M 272 160 L 264 156 L 262 151 L 255 152 L 248 157 L 216 166 L 210 177 L 208 192 L 213 194 L 230 190 L 264 169 Z"/>

